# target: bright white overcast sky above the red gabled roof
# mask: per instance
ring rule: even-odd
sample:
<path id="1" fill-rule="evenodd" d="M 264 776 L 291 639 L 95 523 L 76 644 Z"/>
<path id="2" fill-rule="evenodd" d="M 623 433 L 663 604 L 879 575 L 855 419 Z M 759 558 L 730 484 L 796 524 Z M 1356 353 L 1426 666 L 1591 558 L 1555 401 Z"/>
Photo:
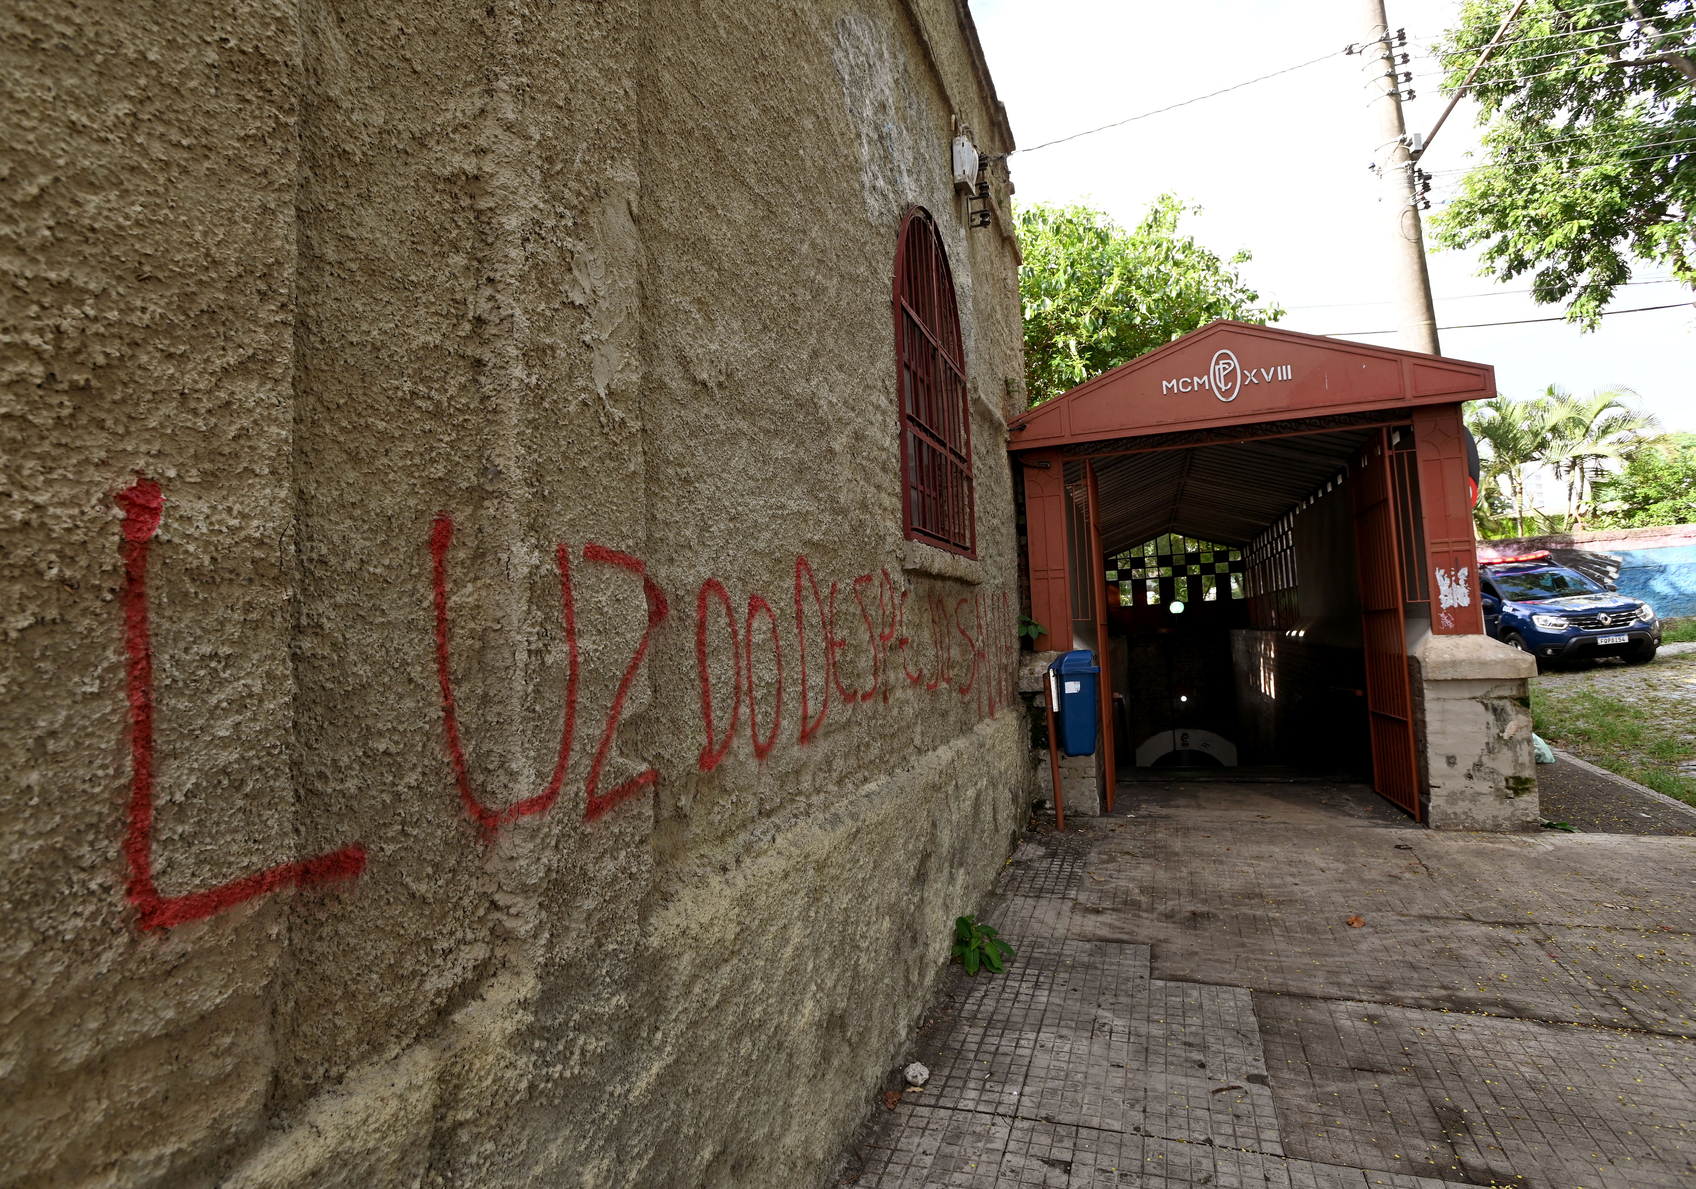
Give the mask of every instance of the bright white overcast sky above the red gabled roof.
<path id="1" fill-rule="evenodd" d="M 1455 20 L 1455 0 L 1389 0 L 1392 27 L 1406 27 L 1418 98 L 1408 127 L 1428 129 L 1443 98 L 1437 64 L 1421 51 Z M 972 0 L 996 87 L 1021 146 L 1035 146 L 1167 103 L 1206 95 L 1342 51 L 1365 32 L 1364 7 L 1350 0 L 1187 0 L 1182 5 L 1124 0 Z M 1107 132 L 1009 161 L 1019 202 L 1087 197 L 1123 224 L 1141 217 L 1163 190 L 1197 202 L 1187 229 L 1245 266 L 1264 297 L 1289 309 L 1280 322 L 1314 334 L 1394 329 L 1394 305 L 1381 261 L 1386 222 L 1379 183 L 1367 170 L 1379 137 L 1367 112 L 1360 58 L 1336 53 L 1230 95 L 1153 115 Z M 1433 141 L 1423 166 L 1445 181 L 1477 146 L 1470 103 L 1462 102 Z M 1523 292 L 1526 278 L 1477 276 L 1469 253 L 1431 253 L 1437 322 L 1554 317 Z M 1645 266 L 1633 280 L 1665 276 Z M 1633 283 L 1611 309 L 1689 302 L 1672 283 Z M 1696 431 L 1696 317 L 1681 309 L 1620 314 L 1581 334 L 1562 322 L 1445 329 L 1443 354 L 1496 365 L 1506 395 L 1525 397 L 1559 383 L 1574 392 L 1628 385 L 1669 429 Z M 1362 343 L 1396 346 L 1394 334 Z"/>

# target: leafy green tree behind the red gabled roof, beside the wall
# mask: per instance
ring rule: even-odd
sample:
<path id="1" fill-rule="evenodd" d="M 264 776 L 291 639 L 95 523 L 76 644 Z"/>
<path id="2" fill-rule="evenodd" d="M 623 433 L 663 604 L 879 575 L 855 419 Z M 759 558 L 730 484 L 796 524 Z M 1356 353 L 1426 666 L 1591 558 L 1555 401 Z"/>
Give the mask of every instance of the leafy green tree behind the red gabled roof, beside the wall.
<path id="1" fill-rule="evenodd" d="M 1199 207 L 1189 207 L 1199 214 Z M 1179 234 L 1184 204 L 1155 198 L 1135 231 L 1084 204 L 1018 210 L 1024 382 L 1033 405 L 1221 317 L 1275 322 L 1277 304 L 1230 260 Z"/>

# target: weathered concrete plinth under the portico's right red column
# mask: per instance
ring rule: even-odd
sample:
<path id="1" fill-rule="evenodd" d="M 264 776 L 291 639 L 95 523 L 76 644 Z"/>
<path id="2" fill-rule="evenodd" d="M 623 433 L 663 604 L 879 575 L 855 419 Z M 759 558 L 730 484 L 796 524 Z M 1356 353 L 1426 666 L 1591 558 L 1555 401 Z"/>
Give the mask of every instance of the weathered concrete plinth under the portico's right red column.
<path id="1" fill-rule="evenodd" d="M 1433 829 L 1537 829 L 1535 675 L 1531 656 L 1489 636 L 1426 636 L 1408 658 Z"/>

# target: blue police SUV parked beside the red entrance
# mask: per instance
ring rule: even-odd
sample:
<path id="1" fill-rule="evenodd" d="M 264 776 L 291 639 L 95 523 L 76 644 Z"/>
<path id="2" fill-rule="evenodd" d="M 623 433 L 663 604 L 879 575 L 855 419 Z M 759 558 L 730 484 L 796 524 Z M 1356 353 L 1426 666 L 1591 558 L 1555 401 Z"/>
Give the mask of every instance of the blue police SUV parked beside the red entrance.
<path id="1" fill-rule="evenodd" d="M 1486 634 L 1531 653 L 1540 670 L 1594 656 L 1643 663 L 1660 646 L 1654 607 L 1555 565 L 1547 551 L 1479 561 L 1479 589 Z"/>

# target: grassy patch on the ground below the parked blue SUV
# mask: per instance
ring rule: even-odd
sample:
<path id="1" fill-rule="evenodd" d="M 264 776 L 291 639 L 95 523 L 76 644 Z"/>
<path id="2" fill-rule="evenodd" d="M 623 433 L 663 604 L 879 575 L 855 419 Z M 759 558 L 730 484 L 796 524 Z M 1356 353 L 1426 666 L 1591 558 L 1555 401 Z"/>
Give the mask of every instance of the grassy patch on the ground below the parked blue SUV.
<path id="1" fill-rule="evenodd" d="M 1684 680 L 1686 673 L 1696 673 L 1696 665 L 1677 665 L 1676 673 L 1674 680 Z M 1531 724 L 1557 748 L 1696 806 L 1696 773 L 1679 770 L 1696 760 L 1688 694 L 1533 680 Z"/>

